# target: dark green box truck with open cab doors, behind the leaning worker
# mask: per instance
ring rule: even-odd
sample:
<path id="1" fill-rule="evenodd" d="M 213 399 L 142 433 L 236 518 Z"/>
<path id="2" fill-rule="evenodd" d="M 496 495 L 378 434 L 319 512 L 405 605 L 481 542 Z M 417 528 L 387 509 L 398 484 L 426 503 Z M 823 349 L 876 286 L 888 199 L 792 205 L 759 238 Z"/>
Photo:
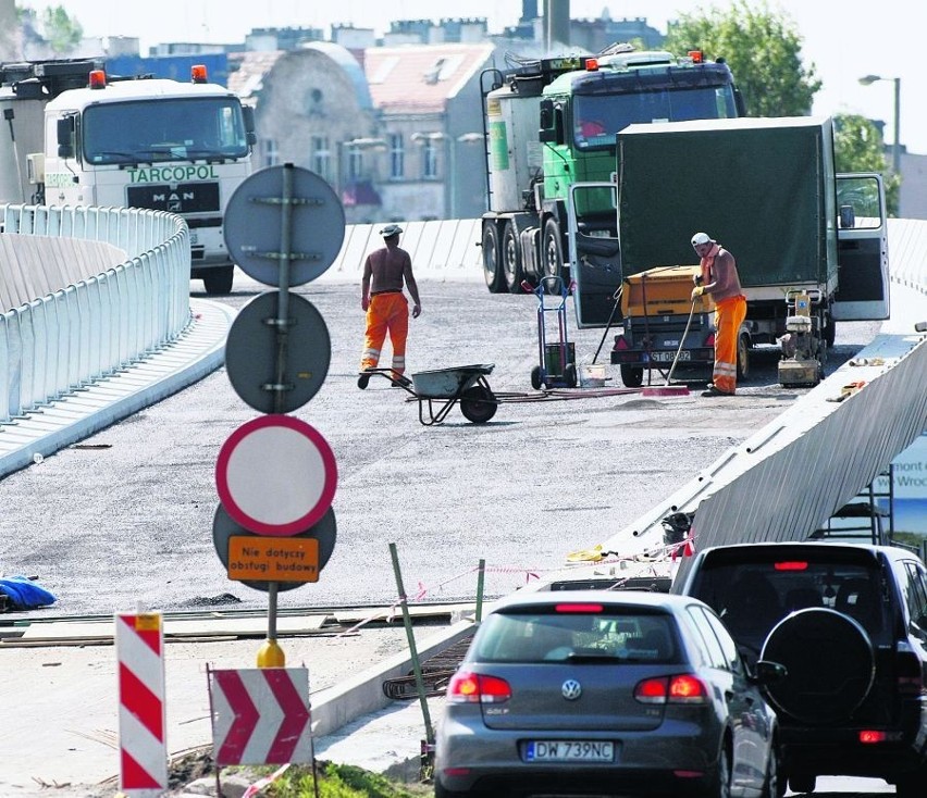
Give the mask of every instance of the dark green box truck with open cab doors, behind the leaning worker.
<path id="1" fill-rule="evenodd" d="M 690 239 L 699 230 L 737 258 L 747 299 L 742 375 L 750 350 L 771 344 L 782 348 L 783 384 L 815 384 L 836 322 L 888 317 L 881 177 L 836 173 L 832 127 L 829 117 L 800 116 L 631 125 L 618 134 L 620 169 L 609 186 L 617 235 L 588 235 L 573 212 L 569 241 L 578 325 L 620 327 L 611 362 L 626 383 L 665 367 L 680 342 L 680 360 L 707 353 L 710 367 L 710 319 L 682 341 L 688 314 L 615 312 L 616 292 L 632 275 L 697 263 Z M 574 186 L 570 211 L 603 185 Z"/>

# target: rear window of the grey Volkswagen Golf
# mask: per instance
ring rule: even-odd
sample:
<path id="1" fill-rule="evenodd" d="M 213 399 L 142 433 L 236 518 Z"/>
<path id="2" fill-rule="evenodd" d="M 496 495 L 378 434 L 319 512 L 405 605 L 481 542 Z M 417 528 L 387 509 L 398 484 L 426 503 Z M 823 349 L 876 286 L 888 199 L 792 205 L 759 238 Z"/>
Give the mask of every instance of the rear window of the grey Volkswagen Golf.
<path id="1" fill-rule="evenodd" d="M 491 614 L 480 627 L 468 659 L 675 663 L 678 645 L 670 615 L 605 606 L 582 609 L 560 604 Z"/>

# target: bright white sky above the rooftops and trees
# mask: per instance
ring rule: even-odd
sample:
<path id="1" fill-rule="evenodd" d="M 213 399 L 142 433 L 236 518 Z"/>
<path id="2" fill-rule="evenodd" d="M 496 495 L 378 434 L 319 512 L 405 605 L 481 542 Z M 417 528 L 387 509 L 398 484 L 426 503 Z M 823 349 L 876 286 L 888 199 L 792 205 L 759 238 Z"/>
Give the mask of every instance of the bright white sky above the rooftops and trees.
<path id="1" fill-rule="evenodd" d="M 746 0 L 756 7 L 763 0 Z M 322 27 L 332 23 L 390 29 L 392 20 L 485 17 L 500 33 L 521 16 L 521 0 L 17 0 L 41 13 L 63 5 L 86 36 L 136 36 L 141 52 L 169 41 L 244 41 L 256 27 Z M 666 33 L 668 20 L 683 13 L 730 7 L 728 0 L 571 0 L 573 18 L 646 18 Z M 543 5 L 537 0 L 537 7 Z M 769 0 L 766 8 L 790 18 L 802 38 L 805 66 L 814 65 L 824 87 L 813 112 L 860 113 L 886 122 L 894 140 L 894 82 L 900 78 L 900 140 L 909 152 L 927 154 L 927 68 L 922 57 L 927 4 L 923 0 Z M 863 75 L 882 80 L 860 85 Z M 734 79 L 737 76 L 734 76 Z"/>

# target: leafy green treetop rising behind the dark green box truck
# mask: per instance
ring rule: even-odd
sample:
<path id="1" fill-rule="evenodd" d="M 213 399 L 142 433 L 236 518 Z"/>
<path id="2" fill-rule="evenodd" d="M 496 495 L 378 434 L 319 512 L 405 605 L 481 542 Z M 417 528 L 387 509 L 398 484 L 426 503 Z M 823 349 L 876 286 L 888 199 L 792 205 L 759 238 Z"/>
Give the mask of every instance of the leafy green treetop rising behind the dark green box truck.
<path id="1" fill-rule="evenodd" d="M 751 116 L 802 116 L 821 87 L 814 64 L 802 62 L 802 37 L 784 13 L 765 3 L 736 0 L 725 8 L 700 9 L 669 25 L 666 49 L 702 50 L 724 58 L 743 95 Z"/>

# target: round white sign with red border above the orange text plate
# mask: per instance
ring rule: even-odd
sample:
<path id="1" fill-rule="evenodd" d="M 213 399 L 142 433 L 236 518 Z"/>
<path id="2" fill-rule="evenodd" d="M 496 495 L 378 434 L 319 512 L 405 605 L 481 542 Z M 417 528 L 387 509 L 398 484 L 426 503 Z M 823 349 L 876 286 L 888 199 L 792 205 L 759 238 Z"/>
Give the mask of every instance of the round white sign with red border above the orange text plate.
<path id="1" fill-rule="evenodd" d="M 335 456 L 314 427 L 270 414 L 238 427 L 219 450 L 215 486 L 228 515 L 259 535 L 306 532 L 332 506 Z"/>

